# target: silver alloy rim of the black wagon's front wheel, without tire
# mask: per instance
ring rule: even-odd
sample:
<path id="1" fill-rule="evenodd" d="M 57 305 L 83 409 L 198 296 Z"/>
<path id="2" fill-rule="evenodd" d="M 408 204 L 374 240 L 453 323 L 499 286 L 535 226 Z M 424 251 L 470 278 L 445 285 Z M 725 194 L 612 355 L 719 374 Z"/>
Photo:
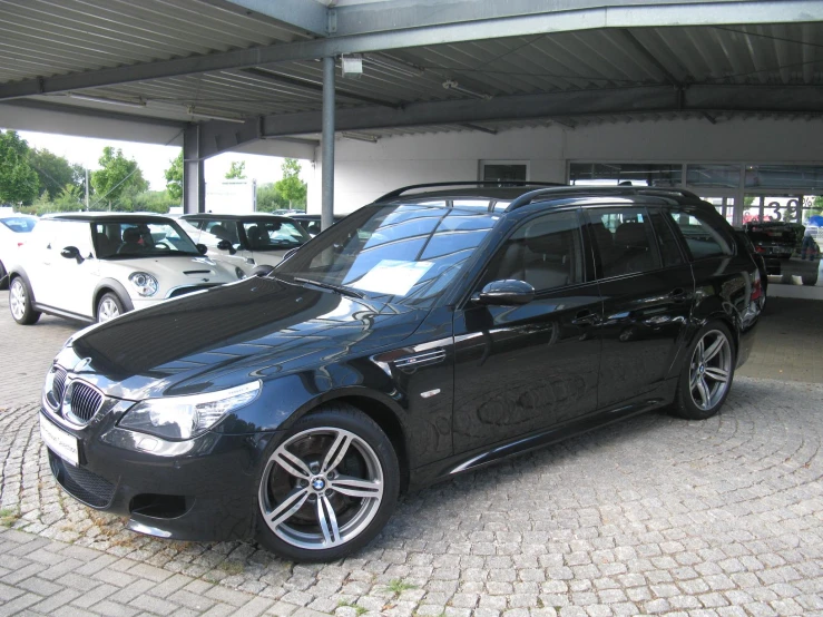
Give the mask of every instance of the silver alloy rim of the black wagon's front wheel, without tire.
<path id="1" fill-rule="evenodd" d="M 302 431 L 268 459 L 259 507 L 283 541 L 321 550 L 344 545 L 374 519 L 383 500 L 383 469 L 369 443 L 332 427 Z"/>

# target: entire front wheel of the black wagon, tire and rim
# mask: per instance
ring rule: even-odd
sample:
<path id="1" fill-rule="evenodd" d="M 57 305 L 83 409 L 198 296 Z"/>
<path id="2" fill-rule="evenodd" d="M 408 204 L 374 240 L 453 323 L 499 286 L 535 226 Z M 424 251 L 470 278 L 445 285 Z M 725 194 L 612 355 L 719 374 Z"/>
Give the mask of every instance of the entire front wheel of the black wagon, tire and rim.
<path id="1" fill-rule="evenodd" d="M 339 559 L 380 532 L 399 492 L 398 457 L 376 422 L 345 403 L 323 405 L 261 464 L 257 541 L 292 561 Z"/>

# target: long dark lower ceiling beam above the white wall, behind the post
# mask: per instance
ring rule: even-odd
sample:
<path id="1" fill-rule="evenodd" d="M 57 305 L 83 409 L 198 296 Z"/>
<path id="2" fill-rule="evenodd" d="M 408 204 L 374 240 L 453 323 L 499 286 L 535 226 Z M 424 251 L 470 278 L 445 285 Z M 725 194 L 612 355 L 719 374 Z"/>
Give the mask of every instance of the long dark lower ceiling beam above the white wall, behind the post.
<path id="1" fill-rule="evenodd" d="M 371 130 L 492 120 L 574 118 L 582 116 L 649 112 L 748 111 L 773 114 L 821 114 L 823 89 L 813 86 L 699 86 L 680 94 L 670 86 L 608 90 L 564 91 L 548 95 L 494 97 L 415 102 L 402 110 L 385 107 L 337 109 L 336 129 Z M 321 129 L 321 112 L 266 116 L 261 133 L 266 137 L 314 134 Z"/>

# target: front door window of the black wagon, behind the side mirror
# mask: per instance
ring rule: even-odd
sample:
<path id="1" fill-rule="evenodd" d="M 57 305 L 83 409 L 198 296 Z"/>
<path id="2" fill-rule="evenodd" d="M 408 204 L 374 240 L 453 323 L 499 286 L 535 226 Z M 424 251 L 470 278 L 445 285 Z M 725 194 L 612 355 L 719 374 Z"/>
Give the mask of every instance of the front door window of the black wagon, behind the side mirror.
<path id="1" fill-rule="evenodd" d="M 545 292 L 582 283 L 579 229 L 577 212 L 558 212 L 527 221 L 494 254 L 482 284 L 517 278 L 537 292 Z"/>

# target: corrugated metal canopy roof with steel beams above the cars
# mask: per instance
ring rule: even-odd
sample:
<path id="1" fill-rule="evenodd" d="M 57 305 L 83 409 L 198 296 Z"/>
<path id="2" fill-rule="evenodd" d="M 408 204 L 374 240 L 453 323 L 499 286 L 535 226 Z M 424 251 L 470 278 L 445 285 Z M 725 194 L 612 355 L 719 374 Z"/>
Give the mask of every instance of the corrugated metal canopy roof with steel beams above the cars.
<path id="1" fill-rule="evenodd" d="M 823 110 L 821 2 L 428 4 L 0 0 L 0 125 L 2 105 L 37 100 L 204 121 L 235 144 L 311 136 L 317 58 L 341 51 L 363 52 L 336 86 L 337 129 L 361 137 Z"/>

